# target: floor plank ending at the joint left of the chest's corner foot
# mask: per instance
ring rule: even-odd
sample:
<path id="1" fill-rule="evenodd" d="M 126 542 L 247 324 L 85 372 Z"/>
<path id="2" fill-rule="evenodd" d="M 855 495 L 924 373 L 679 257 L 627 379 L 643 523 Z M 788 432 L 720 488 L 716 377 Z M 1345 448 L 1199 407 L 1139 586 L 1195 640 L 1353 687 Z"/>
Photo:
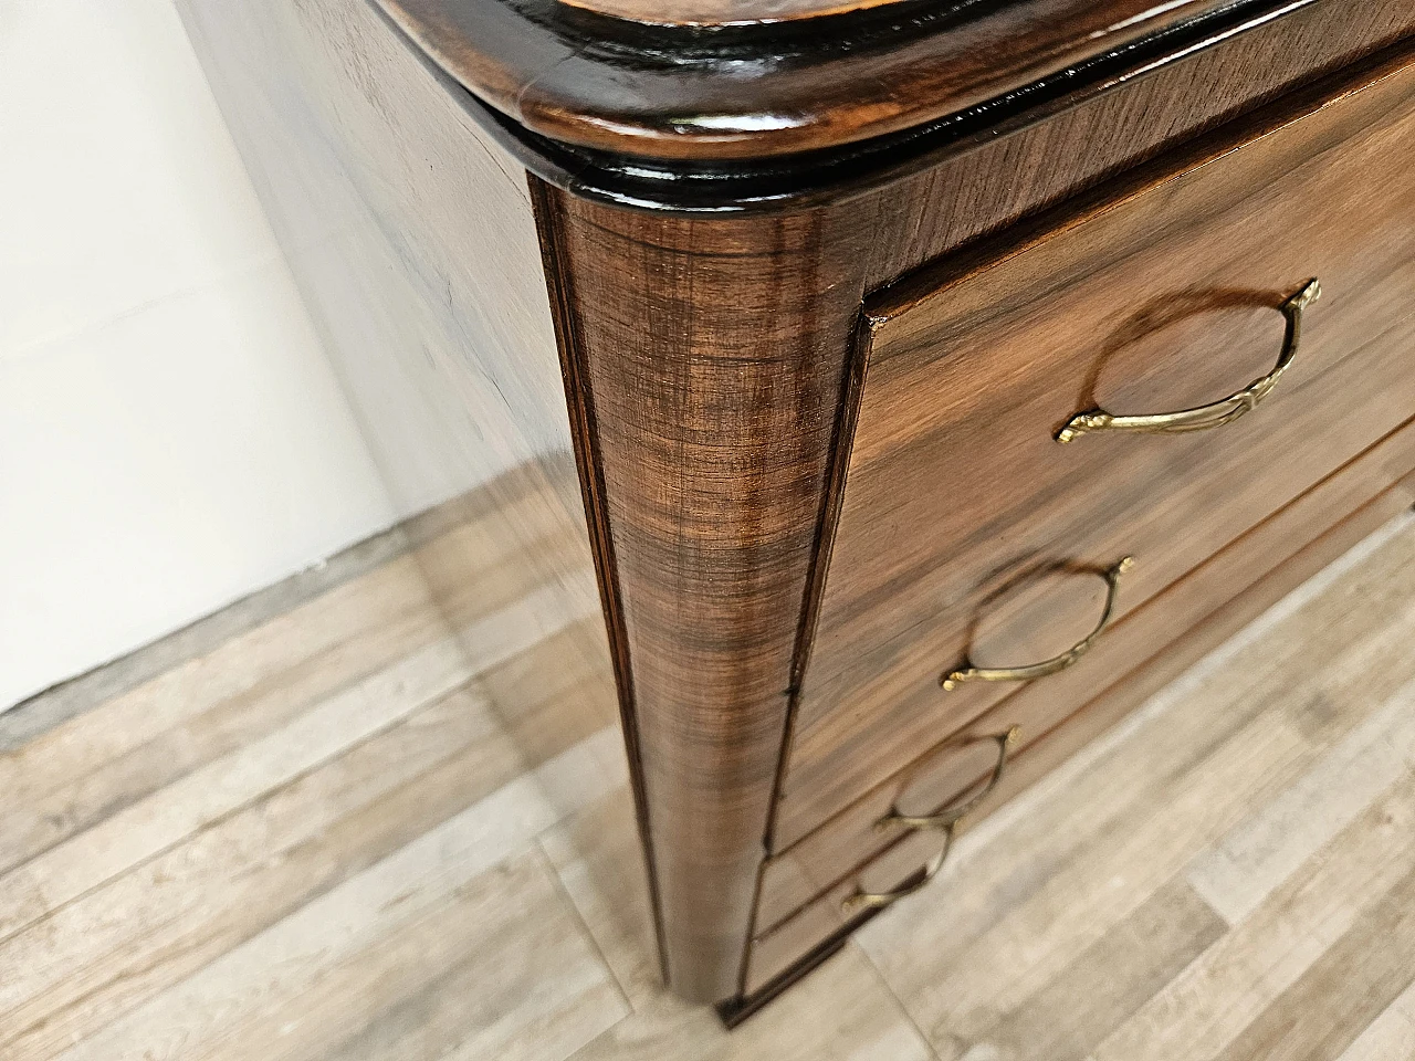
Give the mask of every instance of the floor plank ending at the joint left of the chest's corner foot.
<path id="1" fill-rule="evenodd" d="M 184 1044 L 183 1061 L 562 1061 L 628 1011 L 533 849 L 389 928 Z"/>

